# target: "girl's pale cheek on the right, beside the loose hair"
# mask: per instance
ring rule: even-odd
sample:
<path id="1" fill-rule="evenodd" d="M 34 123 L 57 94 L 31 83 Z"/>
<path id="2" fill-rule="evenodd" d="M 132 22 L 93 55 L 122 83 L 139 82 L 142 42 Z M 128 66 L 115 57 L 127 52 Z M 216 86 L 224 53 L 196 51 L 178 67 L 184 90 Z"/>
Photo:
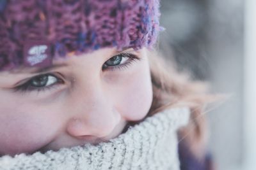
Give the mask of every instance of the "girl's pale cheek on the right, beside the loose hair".
<path id="1" fill-rule="evenodd" d="M 125 77 L 118 90 L 116 108 L 128 121 L 144 118 L 152 104 L 152 82 L 147 64 Z"/>

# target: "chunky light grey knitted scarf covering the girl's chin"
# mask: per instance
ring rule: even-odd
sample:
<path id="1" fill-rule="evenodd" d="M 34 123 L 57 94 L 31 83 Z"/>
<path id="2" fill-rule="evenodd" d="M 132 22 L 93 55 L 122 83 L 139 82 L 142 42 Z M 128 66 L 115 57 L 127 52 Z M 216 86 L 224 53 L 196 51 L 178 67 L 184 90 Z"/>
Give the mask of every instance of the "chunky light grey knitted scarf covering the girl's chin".
<path id="1" fill-rule="evenodd" d="M 178 170 L 177 129 L 189 120 L 188 108 L 147 117 L 107 143 L 0 158 L 1 170 L 148 169 Z"/>

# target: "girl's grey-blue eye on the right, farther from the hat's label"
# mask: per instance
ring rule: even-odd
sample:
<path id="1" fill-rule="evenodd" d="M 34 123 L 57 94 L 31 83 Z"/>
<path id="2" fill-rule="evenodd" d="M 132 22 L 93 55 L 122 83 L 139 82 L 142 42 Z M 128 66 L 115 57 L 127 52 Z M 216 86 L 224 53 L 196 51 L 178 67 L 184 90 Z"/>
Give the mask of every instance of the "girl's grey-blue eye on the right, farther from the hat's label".
<path id="1" fill-rule="evenodd" d="M 140 60 L 140 58 L 132 53 L 120 53 L 107 60 L 102 66 L 102 69 L 127 67 L 134 60 Z"/>

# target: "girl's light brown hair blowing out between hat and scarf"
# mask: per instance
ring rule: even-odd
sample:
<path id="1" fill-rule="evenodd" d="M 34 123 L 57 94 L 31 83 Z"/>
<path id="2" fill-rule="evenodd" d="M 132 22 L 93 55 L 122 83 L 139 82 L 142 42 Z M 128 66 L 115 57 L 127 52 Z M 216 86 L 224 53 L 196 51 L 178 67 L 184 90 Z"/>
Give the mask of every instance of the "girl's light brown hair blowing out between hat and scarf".
<path id="1" fill-rule="evenodd" d="M 179 73 L 173 62 L 156 50 L 148 52 L 153 87 L 153 101 L 148 116 L 167 108 L 186 106 L 191 110 L 189 124 L 179 129 L 179 140 L 186 143 L 191 153 L 204 157 L 207 127 L 204 108 L 213 99 L 207 94 L 208 85 L 193 81 L 188 73 Z"/>

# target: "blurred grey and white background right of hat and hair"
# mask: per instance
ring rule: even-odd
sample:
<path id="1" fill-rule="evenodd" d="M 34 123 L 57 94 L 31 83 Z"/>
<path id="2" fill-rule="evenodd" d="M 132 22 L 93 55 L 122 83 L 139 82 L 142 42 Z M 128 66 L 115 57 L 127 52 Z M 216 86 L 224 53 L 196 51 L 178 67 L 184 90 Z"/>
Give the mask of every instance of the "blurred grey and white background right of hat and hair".
<path id="1" fill-rule="evenodd" d="M 161 0 L 160 50 L 230 96 L 206 113 L 220 170 L 256 169 L 255 11 L 255 0 Z"/>

